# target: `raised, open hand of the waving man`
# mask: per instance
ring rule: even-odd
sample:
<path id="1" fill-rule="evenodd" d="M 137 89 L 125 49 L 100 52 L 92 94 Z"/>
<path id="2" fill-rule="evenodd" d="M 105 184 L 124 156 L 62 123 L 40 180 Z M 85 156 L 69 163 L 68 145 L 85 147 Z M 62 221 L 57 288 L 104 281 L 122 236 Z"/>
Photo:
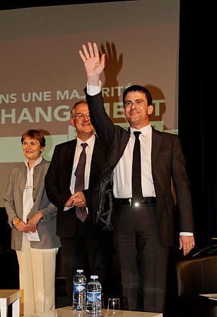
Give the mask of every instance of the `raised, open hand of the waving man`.
<path id="1" fill-rule="evenodd" d="M 98 51 L 98 46 L 93 43 L 93 46 L 88 42 L 88 49 L 86 45 L 82 45 L 83 52 L 80 50 L 79 54 L 83 61 L 88 76 L 89 85 L 99 85 L 100 74 L 105 68 L 105 54 L 100 54 Z M 89 52 L 88 52 L 89 51 Z"/>

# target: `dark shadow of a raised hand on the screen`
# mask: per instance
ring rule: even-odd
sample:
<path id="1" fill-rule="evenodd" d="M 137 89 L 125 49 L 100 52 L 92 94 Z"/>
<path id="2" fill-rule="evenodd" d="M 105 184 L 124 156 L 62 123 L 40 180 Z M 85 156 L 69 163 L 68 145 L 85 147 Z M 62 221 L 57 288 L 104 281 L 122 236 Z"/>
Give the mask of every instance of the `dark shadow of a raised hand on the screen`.
<path id="1" fill-rule="evenodd" d="M 123 54 L 117 56 L 115 44 L 106 43 L 106 49 L 104 45 L 101 45 L 101 54 L 106 54 L 105 60 L 105 87 L 117 86 L 117 74 L 122 69 Z"/>

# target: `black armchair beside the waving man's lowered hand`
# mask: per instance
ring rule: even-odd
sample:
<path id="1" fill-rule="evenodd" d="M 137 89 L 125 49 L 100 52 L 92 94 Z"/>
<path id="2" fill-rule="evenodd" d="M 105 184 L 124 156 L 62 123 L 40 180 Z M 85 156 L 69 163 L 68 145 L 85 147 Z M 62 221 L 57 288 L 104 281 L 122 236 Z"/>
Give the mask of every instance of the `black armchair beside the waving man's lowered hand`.
<path id="1" fill-rule="evenodd" d="M 175 263 L 180 317 L 217 317 L 217 301 L 201 294 L 217 293 L 217 256 Z"/>

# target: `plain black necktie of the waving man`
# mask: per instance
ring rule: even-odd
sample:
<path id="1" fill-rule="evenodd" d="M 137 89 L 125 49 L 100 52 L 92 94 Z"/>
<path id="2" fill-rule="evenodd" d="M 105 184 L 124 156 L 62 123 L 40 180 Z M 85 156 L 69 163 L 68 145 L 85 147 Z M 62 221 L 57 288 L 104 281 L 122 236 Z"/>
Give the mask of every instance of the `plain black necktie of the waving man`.
<path id="1" fill-rule="evenodd" d="M 142 190 L 141 190 L 141 150 L 139 141 L 140 131 L 134 131 L 136 138 L 133 152 L 133 164 L 132 164 L 132 198 L 133 201 L 141 201 Z"/>

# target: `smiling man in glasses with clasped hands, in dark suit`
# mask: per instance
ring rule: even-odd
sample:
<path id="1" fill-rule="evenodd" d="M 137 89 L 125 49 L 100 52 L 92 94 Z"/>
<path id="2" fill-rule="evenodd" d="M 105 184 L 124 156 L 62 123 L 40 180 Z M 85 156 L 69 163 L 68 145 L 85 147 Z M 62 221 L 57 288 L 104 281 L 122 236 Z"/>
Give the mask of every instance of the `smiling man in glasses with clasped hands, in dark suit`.
<path id="1" fill-rule="evenodd" d="M 71 306 L 77 269 L 84 269 L 87 279 L 90 274 L 99 275 L 103 284 L 110 260 L 110 232 L 102 230 L 100 225 L 93 225 L 93 189 L 105 162 L 105 148 L 94 135 L 86 101 L 76 102 L 70 121 L 76 128 L 77 138 L 55 147 L 45 187 L 49 200 L 58 208 L 57 235 L 61 239 Z M 82 152 L 86 163 L 83 166 L 83 188 L 79 189 L 76 180 L 79 179 L 78 165 L 81 167 L 83 162 Z"/>

